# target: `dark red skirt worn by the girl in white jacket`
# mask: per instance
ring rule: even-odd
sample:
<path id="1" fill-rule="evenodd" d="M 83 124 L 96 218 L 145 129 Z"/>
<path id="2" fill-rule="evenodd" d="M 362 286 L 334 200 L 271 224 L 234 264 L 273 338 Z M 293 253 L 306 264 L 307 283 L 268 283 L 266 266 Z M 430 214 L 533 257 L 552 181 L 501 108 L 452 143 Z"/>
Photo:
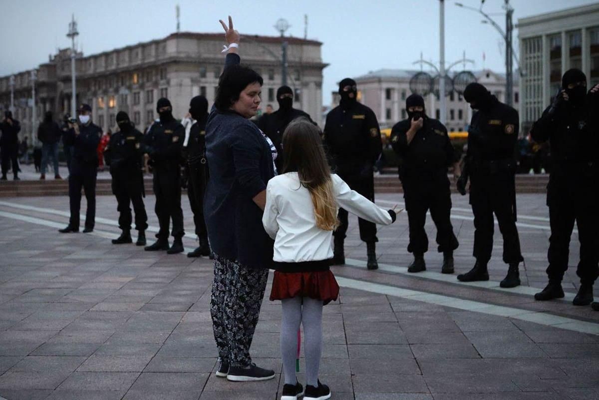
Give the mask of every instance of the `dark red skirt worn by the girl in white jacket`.
<path id="1" fill-rule="evenodd" d="M 324 304 L 328 304 L 337 300 L 338 295 L 339 285 L 331 271 L 274 271 L 271 301 L 301 296 L 322 300 Z"/>

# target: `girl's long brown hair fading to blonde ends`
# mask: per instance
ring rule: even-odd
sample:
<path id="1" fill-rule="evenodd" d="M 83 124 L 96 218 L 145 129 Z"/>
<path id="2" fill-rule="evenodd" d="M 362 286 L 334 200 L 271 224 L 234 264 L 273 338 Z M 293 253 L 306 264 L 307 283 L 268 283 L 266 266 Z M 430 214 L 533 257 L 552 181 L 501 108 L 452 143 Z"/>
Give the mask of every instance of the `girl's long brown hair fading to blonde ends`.
<path id="1" fill-rule="evenodd" d="M 283 172 L 298 173 L 299 182 L 310 192 L 316 226 L 334 231 L 339 222 L 331 168 L 320 129 L 305 118 L 293 120 L 283 133 Z"/>

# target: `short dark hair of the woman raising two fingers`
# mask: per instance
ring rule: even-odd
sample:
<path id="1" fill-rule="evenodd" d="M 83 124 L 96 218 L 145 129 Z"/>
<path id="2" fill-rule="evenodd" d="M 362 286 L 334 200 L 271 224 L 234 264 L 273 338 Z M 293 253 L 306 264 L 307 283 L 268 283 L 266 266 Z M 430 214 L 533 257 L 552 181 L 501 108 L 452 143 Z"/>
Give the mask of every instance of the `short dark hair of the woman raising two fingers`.
<path id="1" fill-rule="evenodd" d="M 228 66 L 220 75 L 214 107 L 219 111 L 228 110 L 239 99 L 243 89 L 252 83 L 259 83 L 260 86 L 264 83 L 258 72 L 245 65 Z"/>

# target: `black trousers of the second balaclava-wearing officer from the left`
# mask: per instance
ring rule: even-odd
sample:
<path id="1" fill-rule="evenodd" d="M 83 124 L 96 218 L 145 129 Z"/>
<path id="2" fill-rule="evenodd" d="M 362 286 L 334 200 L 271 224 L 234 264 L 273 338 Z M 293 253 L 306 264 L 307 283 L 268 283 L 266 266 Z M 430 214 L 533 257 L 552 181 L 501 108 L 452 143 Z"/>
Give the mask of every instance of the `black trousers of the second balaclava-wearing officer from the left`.
<path id="1" fill-rule="evenodd" d="M 159 240 L 168 240 L 168 228 L 173 220 L 171 234 L 175 239 L 183 237 L 183 210 L 181 210 L 181 176 L 179 170 L 155 168 L 153 189 L 156 196 L 156 216 L 160 230 Z"/>

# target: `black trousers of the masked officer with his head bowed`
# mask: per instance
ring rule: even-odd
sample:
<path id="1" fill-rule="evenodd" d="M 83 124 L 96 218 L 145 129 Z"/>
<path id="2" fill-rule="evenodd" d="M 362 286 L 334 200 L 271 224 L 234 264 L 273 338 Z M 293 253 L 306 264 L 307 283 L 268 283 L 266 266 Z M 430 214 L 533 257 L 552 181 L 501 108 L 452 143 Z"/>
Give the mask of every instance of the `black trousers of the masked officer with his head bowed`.
<path id="1" fill-rule="evenodd" d="M 494 174 L 471 174 L 470 204 L 474 214 L 473 256 L 480 262 L 491 259 L 495 214 L 503 235 L 503 262 L 522 262 L 524 259 L 516 229 L 513 173 L 498 171 Z"/>

